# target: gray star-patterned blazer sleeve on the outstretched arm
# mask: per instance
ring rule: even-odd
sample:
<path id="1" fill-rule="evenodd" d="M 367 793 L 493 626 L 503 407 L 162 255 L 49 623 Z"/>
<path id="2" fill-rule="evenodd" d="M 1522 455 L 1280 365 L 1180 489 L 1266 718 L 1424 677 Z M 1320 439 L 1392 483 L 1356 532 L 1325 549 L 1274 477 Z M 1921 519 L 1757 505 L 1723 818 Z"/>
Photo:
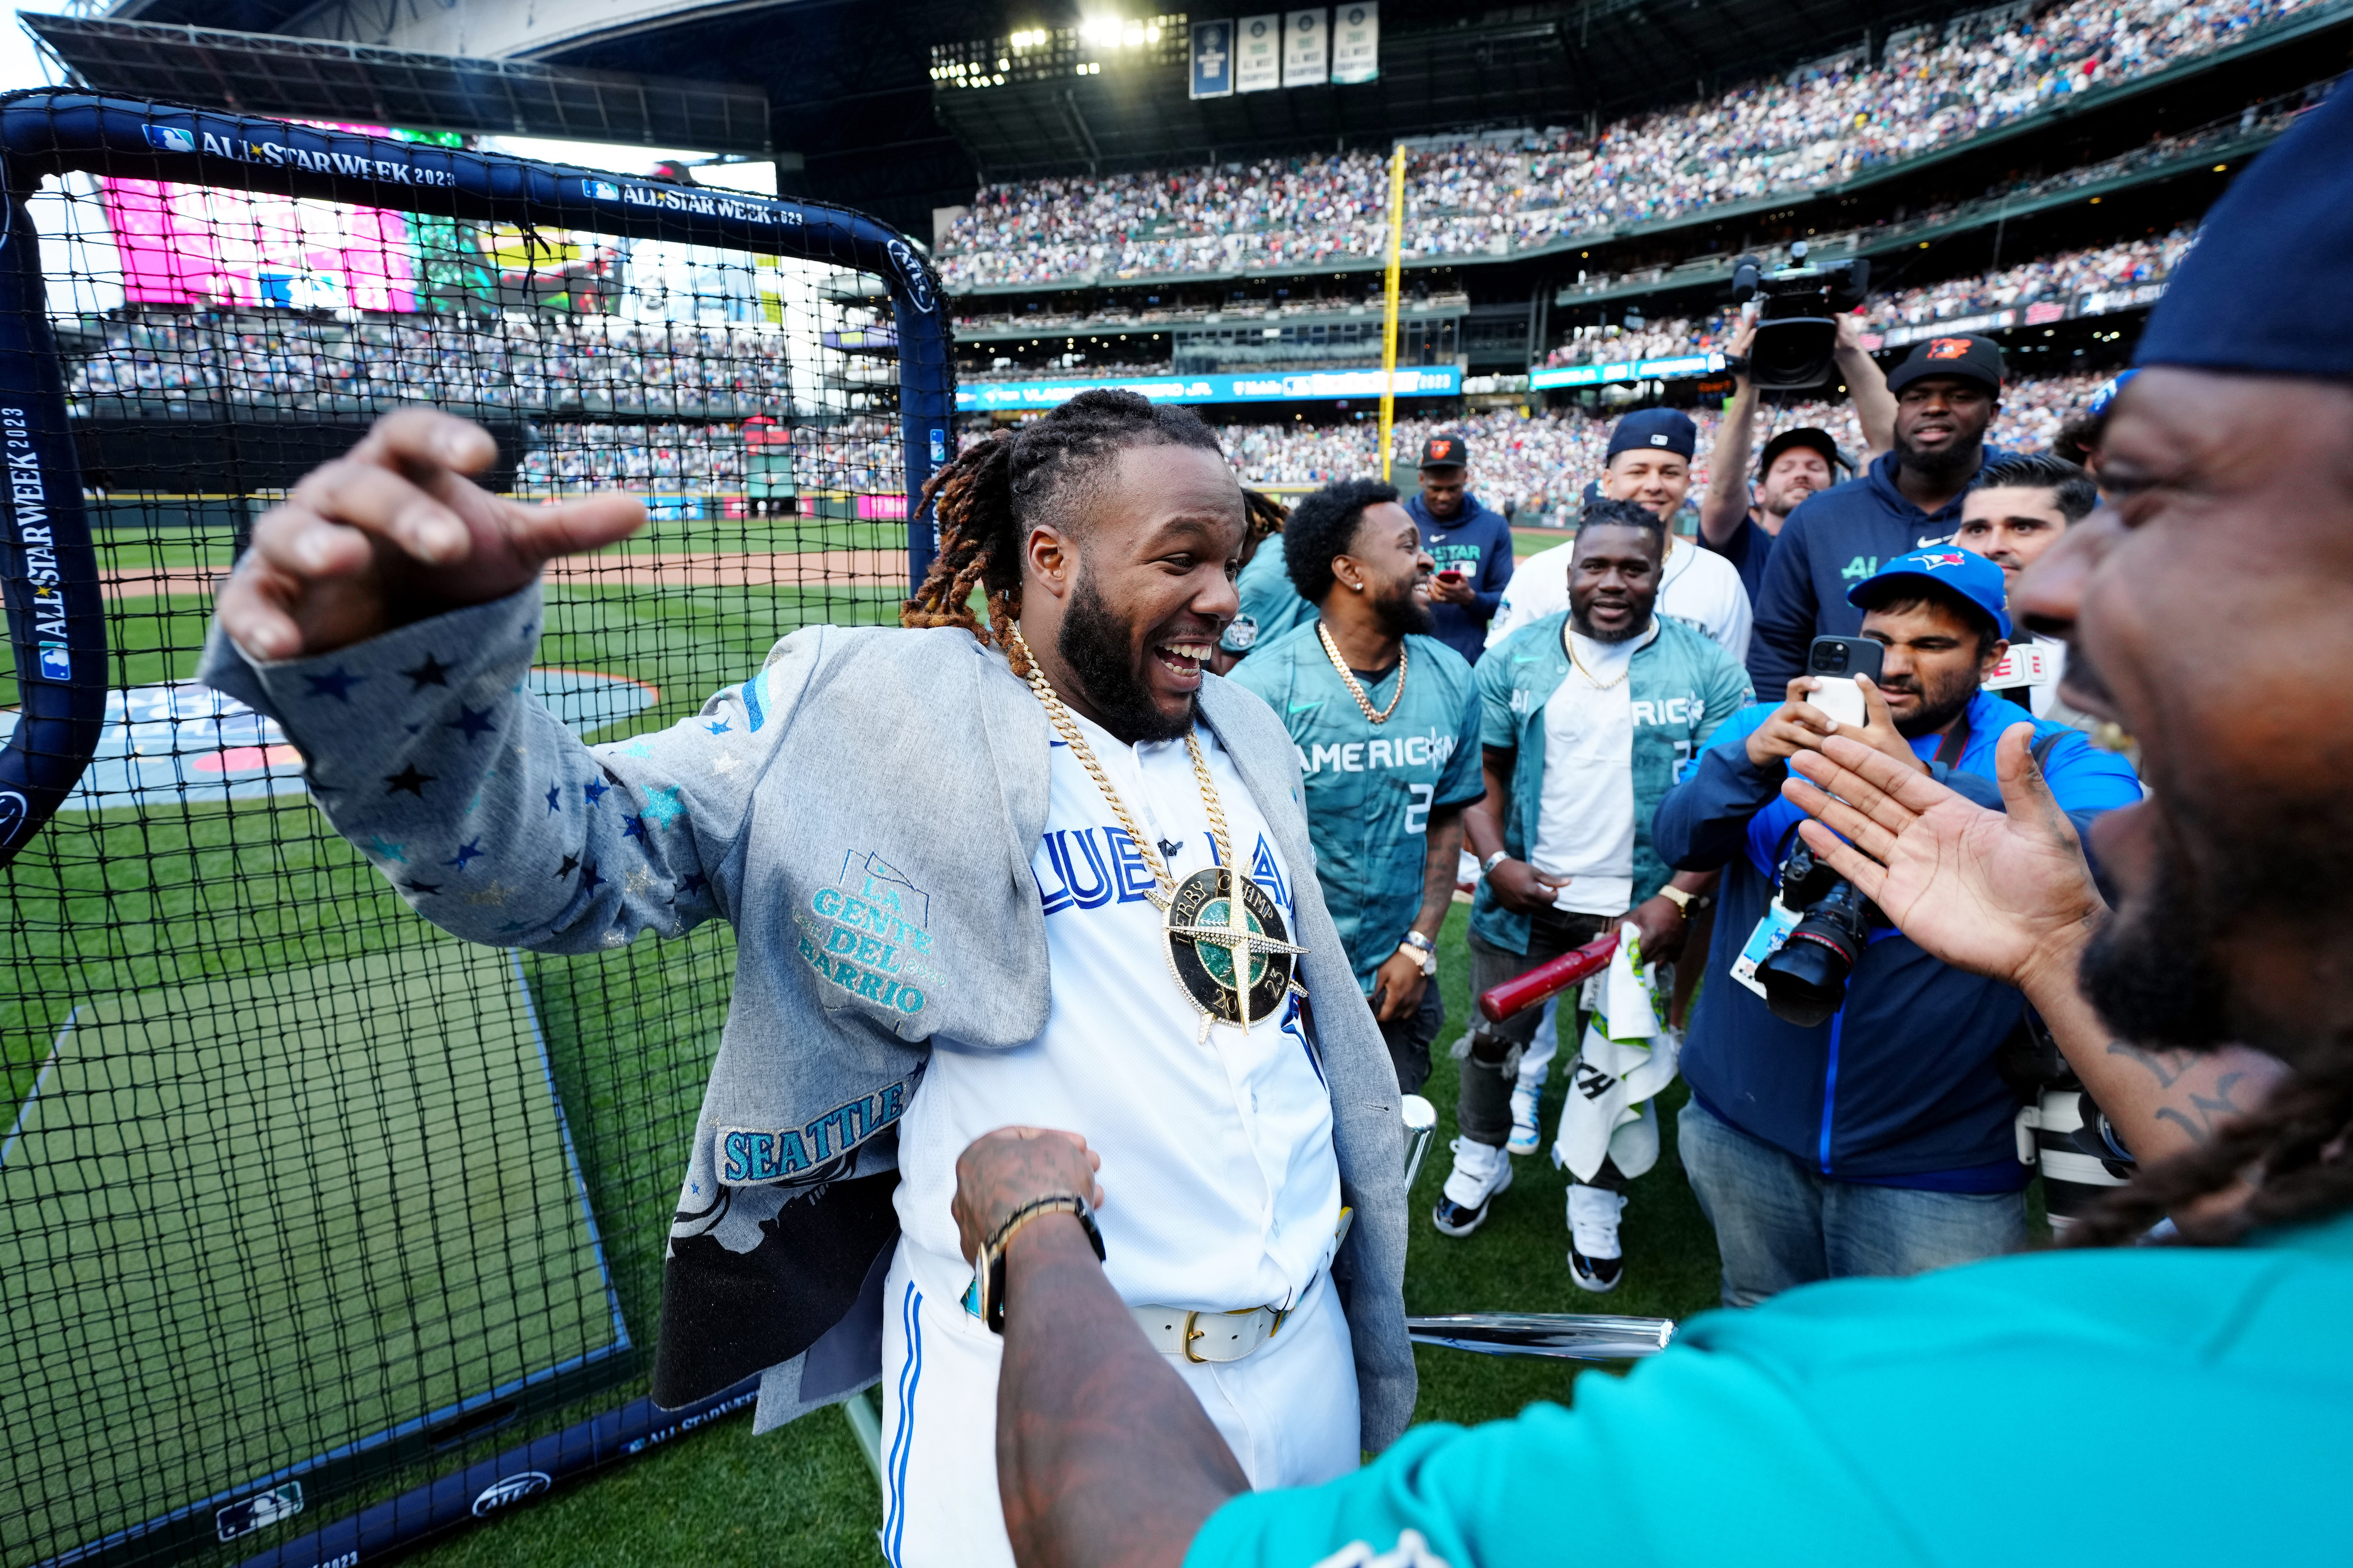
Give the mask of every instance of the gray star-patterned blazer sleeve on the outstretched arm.
<path id="1" fill-rule="evenodd" d="M 718 867 L 786 729 L 767 672 L 586 745 L 529 691 L 536 646 L 532 585 L 318 658 L 249 661 L 214 628 L 198 679 L 278 719 L 336 832 L 452 936 L 591 952 L 727 914 Z"/>

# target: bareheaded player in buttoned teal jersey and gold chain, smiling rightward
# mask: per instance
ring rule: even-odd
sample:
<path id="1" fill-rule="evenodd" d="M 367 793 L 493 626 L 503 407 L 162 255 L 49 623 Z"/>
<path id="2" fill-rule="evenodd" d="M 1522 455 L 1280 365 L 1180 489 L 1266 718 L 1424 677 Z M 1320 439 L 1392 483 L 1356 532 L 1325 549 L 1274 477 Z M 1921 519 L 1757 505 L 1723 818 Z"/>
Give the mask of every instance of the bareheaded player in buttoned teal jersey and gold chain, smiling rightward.
<path id="1" fill-rule="evenodd" d="M 1468 661 L 1428 635 L 1435 567 L 1393 487 L 1327 484 L 1292 510 L 1282 550 L 1315 616 L 1233 679 L 1292 731 L 1315 875 L 1412 1093 L 1445 1027 L 1431 978 L 1461 811 L 1482 795 L 1478 693 Z"/>

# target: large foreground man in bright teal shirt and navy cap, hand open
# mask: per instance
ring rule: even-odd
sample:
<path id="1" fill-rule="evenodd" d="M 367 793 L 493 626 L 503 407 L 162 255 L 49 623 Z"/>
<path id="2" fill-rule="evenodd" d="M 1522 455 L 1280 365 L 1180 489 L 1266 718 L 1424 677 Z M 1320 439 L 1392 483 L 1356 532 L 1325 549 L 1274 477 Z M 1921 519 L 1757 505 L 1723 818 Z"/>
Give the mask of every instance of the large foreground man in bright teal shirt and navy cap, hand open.
<path id="1" fill-rule="evenodd" d="M 2313 670 L 2353 663 L 2348 214 L 2353 94 L 2337 94 L 2207 214 L 2104 437 L 2120 508 L 2024 585 L 2026 611 L 2075 637 L 2068 698 L 2148 743 L 2155 792 L 2099 823 L 2113 912 L 2035 785 L 2024 722 L 2000 745 L 2007 816 L 1859 738 L 1793 755 L 1814 783 L 1788 790 L 1854 844 L 1809 825 L 1812 846 L 1948 961 L 2021 985 L 2162 1164 L 2068 1251 L 1708 1314 L 1628 1378 L 1579 1380 L 1574 1410 L 1421 1427 L 1353 1476 L 1254 1495 L 1080 1222 L 1049 1213 L 1002 1241 L 998 1476 L 1021 1561 L 1998 1561 L 2019 1552 L 2021 1509 L 1988 1488 L 1986 1458 L 2049 1408 L 2106 1441 L 2068 1448 L 2066 1495 L 2024 1528 L 2134 1568 L 2344 1556 L 2353 691 Z M 2233 635 L 2181 635 L 2214 623 Z M 2233 1037 L 2292 1077 L 2273 1088 L 2221 1048 Z M 1024 1204 L 1092 1180 L 1068 1135 L 974 1143 L 955 1197 L 967 1255 Z M 2118 1246 L 2160 1213 L 2186 1246 Z"/>

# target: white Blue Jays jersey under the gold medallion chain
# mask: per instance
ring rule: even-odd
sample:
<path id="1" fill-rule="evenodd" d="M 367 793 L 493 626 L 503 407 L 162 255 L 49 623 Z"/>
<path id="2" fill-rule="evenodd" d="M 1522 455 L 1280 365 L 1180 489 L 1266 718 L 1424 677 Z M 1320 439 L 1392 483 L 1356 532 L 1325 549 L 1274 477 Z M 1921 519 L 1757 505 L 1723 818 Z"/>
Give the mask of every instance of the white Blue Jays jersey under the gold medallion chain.
<path id="1" fill-rule="evenodd" d="M 1122 745 L 1078 719 L 1136 825 L 1174 844 L 1181 882 L 1217 865 L 1184 741 Z M 1200 729 L 1233 851 L 1292 929 L 1292 870 L 1242 776 Z M 1054 743 L 1047 827 L 1031 856 L 1045 910 L 1052 1006 L 1009 1051 L 932 1039 L 899 1135 L 899 1222 L 925 1293 L 962 1293 L 948 1201 L 955 1159 L 1000 1126 L 1082 1133 L 1104 1157 L 1099 1215 L 1111 1284 L 1132 1305 L 1233 1312 L 1282 1305 L 1315 1279 L 1339 1220 L 1332 1100 L 1299 1023 L 1217 1025 L 1169 971 L 1153 875 L 1087 769 Z M 948 1288 L 953 1286 L 953 1288 Z"/>

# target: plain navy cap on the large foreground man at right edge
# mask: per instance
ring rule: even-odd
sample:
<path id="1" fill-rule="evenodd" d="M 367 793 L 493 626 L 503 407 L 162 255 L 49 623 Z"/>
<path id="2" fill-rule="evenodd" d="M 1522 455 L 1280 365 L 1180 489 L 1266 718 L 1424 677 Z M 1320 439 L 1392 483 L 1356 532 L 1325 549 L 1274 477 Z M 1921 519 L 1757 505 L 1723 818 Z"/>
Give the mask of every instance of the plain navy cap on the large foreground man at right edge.
<path id="1" fill-rule="evenodd" d="M 2134 362 L 2353 376 L 2353 92 L 2339 87 L 2231 181 Z"/>

